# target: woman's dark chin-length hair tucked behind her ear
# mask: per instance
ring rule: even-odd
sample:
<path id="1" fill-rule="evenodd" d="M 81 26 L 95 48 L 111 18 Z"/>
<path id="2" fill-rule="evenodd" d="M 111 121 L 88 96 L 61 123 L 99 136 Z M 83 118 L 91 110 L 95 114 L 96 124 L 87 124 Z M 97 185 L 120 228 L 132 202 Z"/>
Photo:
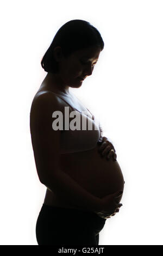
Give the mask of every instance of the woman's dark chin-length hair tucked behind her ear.
<path id="1" fill-rule="evenodd" d="M 53 56 L 55 47 L 60 46 L 64 57 L 83 48 L 97 46 L 104 48 L 101 34 L 89 22 L 71 20 L 65 23 L 55 34 L 54 39 L 41 60 L 41 66 L 46 72 L 58 72 L 58 64 Z"/>

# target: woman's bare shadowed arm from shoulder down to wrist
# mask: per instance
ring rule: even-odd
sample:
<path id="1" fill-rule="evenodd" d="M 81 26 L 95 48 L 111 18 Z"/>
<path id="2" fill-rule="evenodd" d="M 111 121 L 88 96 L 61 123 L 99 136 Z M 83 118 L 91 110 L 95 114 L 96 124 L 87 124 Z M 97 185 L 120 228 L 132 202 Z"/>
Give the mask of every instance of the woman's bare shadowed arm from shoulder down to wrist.
<path id="1" fill-rule="evenodd" d="M 101 210 L 102 199 L 87 192 L 60 169 L 61 131 L 52 129 L 54 111 L 61 111 L 64 114 L 59 98 L 51 93 L 39 95 L 30 111 L 30 132 L 39 179 L 58 197 L 79 208 L 90 211 Z"/>

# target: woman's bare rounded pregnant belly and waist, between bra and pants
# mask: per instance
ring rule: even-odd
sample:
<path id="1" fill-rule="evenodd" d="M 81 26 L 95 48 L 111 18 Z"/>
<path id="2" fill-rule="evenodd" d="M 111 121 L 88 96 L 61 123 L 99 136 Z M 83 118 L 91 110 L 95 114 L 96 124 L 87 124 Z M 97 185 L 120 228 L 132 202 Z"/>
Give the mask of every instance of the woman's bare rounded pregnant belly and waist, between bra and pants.
<path id="1" fill-rule="evenodd" d="M 116 191 L 123 191 L 124 179 L 118 162 L 113 161 L 112 157 L 109 160 L 101 157 L 98 148 L 99 145 L 91 150 L 61 155 L 60 166 L 61 170 L 70 175 L 86 191 L 102 198 Z M 77 206 L 59 199 L 48 189 L 44 204 L 77 209 Z"/>

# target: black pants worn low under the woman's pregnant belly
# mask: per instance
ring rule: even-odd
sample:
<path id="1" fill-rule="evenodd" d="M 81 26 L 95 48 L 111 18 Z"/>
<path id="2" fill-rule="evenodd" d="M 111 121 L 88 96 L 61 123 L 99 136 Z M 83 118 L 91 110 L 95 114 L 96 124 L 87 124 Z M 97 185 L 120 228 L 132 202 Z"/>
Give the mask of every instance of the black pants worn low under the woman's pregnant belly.
<path id="1" fill-rule="evenodd" d="M 36 222 L 38 245 L 98 245 L 105 218 L 95 212 L 42 205 Z"/>

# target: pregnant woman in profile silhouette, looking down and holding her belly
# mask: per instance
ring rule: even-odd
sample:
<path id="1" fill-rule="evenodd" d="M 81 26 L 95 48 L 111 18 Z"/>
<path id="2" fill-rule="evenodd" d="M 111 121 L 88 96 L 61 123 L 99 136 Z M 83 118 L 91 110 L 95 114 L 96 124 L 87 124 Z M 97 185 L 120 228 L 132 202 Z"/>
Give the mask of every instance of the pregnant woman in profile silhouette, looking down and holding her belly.
<path id="1" fill-rule="evenodd" d="M 98 245 L 106 219 L 122 206 L 124 180 L 114 146 L 69 90 L 92 75 L 103 48 L 95 27 L 72 20 L 59 29 L 41 61 L 47 76 L 30 109 L 37 174 L 47 187 L 36 222 L 38 245 Z"/>

